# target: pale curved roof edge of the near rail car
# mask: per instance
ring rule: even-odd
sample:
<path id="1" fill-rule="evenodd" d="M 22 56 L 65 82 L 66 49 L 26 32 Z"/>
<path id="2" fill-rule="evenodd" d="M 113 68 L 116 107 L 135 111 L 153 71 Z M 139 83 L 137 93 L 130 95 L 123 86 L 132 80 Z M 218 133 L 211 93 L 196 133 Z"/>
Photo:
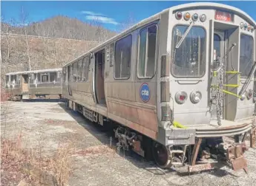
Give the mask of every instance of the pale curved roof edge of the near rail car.
<path id="1" fill-rule="evenodd" d="M 156 18 L 158 18 L 161 14 L 167 12 L 167 11 L 177 11 L 177 10 L 189 10 L 189 9 L 199 9 L 199 8 L 211 8 L 211 9 L 218 9 L 218 10 L 227 10 L 232 11 L 233 13 L 240 15 L 240 17 L 245 18 L 246 20 L 249 20 L 250 24 L 254 24 L 254 27 L 256 27 L 256 22 L 252 19 L 251 16 L 249 16 L 247 13 L 243 12 L 243 10 L 240 10 L 236 7 L 232 7 L 226 4 L 220 4 L 220 3 L 213 3 L 213 2 L 193 2 L 193 3 L 186 3 L 186 4 L 180 4 L 174 7 L 167 8 L 165 10 L 162 10 L 160 13 L 157 13 L 155 15 L 151 15 L 148 18 L 143 19 L 142 21 L 138 22 L 137 24 L 134 24 L 134 26 L 128 28 L 127 30 L 124 30 L 123 32 L 115 35 L 114 37 L 108 39 L 107 41 L 103 42 L 102 44 L 99 44 L 98 46 L 94 47 L 93 49 L 88 50 L 88 52 L 85 52 L 84 54 L 80 55 L 79 57 L 73 59 L 72 61 L 65 63 L 64 66 L 68 66 L 71 63 L 79 60 L 80 58 L 84 58 L 86 55 L 90 54 L 91 52 L 101 49 L 101 47 L 105 46 L 106 44 L 109 44 L 113 41 L 115 41 L 118 38 L 122 38 L 123 36 L 127 35 L 132 30 L 137 29 L 137 27 L 141 27 L 144 24 L 148 24 L 149 21 L 152 21 Z"/>

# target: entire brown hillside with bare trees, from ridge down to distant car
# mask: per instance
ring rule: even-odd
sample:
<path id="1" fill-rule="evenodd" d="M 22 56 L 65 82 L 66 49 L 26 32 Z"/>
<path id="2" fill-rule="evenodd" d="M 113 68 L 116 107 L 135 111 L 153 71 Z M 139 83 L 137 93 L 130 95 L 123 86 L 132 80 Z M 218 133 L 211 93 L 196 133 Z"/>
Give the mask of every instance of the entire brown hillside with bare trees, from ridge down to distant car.
<path id="1" fill-rule="evenodd" d="M 96 47 L 116 35 L 99 24 L 56 16 L 26 27 L 1 23 L 1 84 L 4 74 L 29 69 L 50 69 Z"/>

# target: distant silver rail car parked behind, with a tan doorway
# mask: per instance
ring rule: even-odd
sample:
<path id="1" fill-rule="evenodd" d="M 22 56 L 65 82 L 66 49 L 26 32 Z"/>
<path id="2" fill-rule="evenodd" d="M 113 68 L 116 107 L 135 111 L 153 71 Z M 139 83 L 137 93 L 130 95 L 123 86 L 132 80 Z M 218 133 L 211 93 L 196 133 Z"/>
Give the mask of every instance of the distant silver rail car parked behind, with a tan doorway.
<path id="1" fill-rule="evenodd" d="M 62 69 L 10 72 L 5 76 L 5 89 L 11 100 L 58 95 L 62 97 Z"/>

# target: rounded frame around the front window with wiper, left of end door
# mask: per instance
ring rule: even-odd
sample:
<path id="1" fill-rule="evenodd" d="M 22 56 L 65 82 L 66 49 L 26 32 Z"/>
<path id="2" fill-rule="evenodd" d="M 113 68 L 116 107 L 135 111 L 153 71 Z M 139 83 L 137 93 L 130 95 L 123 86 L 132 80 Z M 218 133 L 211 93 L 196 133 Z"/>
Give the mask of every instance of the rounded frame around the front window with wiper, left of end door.
<path id="1" fill-rule="evenodd" d="M 189 27 L 189 24 L 175 24 L 173 27 L 172 27 L 172 31 L 171 31 L 171 57 L 172 57 L 172 44 L 173 44 L 173 35 L 174 35 L 174 28 L 175 27 L 177 27 L 177 26 L 186 26 L 186 27 Z M 207 50 L 207 42 L 208 42 L 208 32 L 207 32 L 207 30 L 206 30 L 206 28 L 205 27 L 203 27 L 203 26 L 201 26 L 201 25 L 193 25 L 192 26 L 192 28 L 193 27 L 200 27 L 200 28 L 202 28 L 203 30 L 204 30 L 204 32 L 205 32 L 205 51 L 206 51 L 206 56 L 207 56 L 207 52 L 208 52 L 208 50 Z M 191 28 L 191 29 L 192 29 Z M 214 38 L 212 38 L 212 40 L 214 40 Z M 197 77 L 194 77 L 194 76 L 186 76 L 186 77 L 184 77 L 184 76 L 176 76 L 176 75 L 174 75 L 174 73 L 172 72 L 172 61 L 170 60 L 170 72 L 171 72 L 171 76 L 172 77 L 175 77 L 175 78 L 179 78 L 179 79 L 184 79 L 184 78 L 191 78 L 191 79 L 201 79 L 202 77 L 204 77 L 205 75 L 206 75 L 206 70 L 208 69 L 208 67 L 209 67 L 209 64 L 207 63 L 207 61 L 209 61 L 207 58 L 206 58 L 206 56 L 205 56 L 205 60 L 206 60 L 206 66 L 205 66 L 205 69 L 204 69 L 204 73 L 203 73 L 203 75 L 201 75 L 201 76 L 197 76 Z"/>

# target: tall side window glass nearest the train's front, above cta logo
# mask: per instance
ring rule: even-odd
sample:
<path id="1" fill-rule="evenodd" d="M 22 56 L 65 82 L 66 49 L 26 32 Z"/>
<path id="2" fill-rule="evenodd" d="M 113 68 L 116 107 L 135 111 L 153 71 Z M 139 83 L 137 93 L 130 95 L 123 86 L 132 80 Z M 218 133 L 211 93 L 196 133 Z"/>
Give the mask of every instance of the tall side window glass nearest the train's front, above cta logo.
<path id="1" fill-rule="evenodd" d="M 138 77 L 151 78 L 156 70 L 157 25 L 151 25 L 140 32 Z"/>

